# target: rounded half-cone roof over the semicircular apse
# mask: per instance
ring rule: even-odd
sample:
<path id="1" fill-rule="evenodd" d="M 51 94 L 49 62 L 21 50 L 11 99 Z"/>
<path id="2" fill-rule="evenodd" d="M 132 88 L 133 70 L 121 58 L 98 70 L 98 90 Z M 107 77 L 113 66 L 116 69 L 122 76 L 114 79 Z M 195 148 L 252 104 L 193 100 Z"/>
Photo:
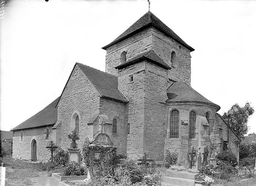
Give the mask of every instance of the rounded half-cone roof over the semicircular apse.
<path id="1" fill-rule="evenodd" d="M 219 105 L 207 100 L 201 94 L 192 89 L 189 85 L 182 81 L 174 82 L 167 89 L 168 100 L 166 102 L 180 102 L 180 101 L 196 101 L 203 102 L 210 105 L 217 106 L 218 110 L 220 109 Z"/>

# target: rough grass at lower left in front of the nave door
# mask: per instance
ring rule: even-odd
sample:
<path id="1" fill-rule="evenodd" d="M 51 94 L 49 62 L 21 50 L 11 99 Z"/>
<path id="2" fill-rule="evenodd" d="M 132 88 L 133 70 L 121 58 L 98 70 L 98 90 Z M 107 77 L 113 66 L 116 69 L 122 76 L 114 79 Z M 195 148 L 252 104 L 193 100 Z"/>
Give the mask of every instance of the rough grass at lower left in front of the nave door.
<path id="1" fill-rule="evenodd" d="M 28 186 L 33 185 L 30 178 L 38 177 L 44 163 L 28 163 L 15 160 L 10 155 L 3 158 L 5 172 L 5 185 Z"/>

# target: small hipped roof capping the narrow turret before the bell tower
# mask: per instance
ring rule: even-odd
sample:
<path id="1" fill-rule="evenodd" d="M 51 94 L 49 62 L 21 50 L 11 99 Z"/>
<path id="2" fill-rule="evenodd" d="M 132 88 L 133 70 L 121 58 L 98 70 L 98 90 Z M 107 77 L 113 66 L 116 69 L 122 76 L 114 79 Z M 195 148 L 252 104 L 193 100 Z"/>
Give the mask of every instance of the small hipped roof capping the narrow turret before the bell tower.
<path id="1" fill-rule="evenodd" d="M 164 68 L 171 69 L 171 67 L 168 64 L 166 64 L 159 56 L 157 56 L 156 53 L 154 53 L 154 50 L 149 50 L 148 52 L 139 54 L 138 56 L 131 58 L 128 61 L 123 62 L 121 65 L 116 66 L 115 68 L 119 69 L 123 66 L 135 63 L 135 62 L 137 62 L 139 60 L 143 60 L 143 59 L 150 60 L 160 66 L 163 66 Z"/>

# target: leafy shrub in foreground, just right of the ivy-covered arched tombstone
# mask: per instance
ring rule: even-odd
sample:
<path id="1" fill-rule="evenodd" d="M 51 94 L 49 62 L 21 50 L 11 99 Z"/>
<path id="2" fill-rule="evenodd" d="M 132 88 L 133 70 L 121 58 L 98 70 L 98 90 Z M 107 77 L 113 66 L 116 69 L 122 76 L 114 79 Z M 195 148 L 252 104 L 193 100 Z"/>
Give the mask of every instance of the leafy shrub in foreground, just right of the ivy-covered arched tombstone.
<path id="1" fill-rule="evenodd" d="M 124 176 L 128 176 L 131 179 L 132 184 L 141 182 L 145 175 L 145 167 L 136 165 L 136 161 L 131 158 L 121 159 L 120 169 L 121 179 Z"/>

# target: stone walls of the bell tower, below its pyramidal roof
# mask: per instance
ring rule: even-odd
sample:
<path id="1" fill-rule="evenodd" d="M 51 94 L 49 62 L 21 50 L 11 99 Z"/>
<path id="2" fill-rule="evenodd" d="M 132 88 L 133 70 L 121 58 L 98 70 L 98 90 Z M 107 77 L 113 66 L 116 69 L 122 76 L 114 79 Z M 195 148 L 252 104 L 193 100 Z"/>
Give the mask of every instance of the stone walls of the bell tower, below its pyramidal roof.
<path id="1" fill-rule="evenodd" d="M 127 51 L 126 60 L 136 57 L 138 54 L 153 49 L 167 64 L 171 65 L 171 53 L 175 51 L 177 66 L 168 70 L 168 78 L 174 81 L 184 81 L 188 85 L 191 82 L 191 56 L 190 50 L 177 43 L 171 37 L 165 35 L 156 28 L 150 27 L 135 35 L 112 45 L 107 49 L 106 72 L 117 76 L 114 68 L 121 62 L 121 53 Z"/>

